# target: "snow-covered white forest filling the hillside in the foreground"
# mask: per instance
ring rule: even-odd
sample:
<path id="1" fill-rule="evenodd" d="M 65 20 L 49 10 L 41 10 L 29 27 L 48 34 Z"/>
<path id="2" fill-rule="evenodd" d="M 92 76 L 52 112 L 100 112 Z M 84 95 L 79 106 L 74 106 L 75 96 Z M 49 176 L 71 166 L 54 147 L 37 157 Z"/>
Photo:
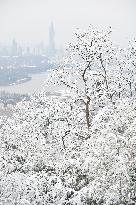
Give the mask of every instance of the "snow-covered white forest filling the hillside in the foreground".
<path id="1" fill-rule="evenodd" d="M 136 204 L 136 40 L 111 36 L 77 29 L 42 90 L 0 118 L 0 205 Z"/>

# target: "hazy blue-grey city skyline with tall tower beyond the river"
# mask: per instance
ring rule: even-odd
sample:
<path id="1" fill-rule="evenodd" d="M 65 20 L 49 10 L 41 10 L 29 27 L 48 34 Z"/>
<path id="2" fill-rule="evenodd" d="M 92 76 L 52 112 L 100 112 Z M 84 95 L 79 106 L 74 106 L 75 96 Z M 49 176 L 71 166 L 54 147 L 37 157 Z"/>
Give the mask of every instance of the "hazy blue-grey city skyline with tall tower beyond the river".
<path id="1" fill-rule="evenodd" d="M 38 42 L 36 45 L 21 46 L 20 42 L 13 38 L 11 42 L 4 44 L 0 43 L 0 56 L 30 56 L 30 55 L 45 55 L 49 58 L 56 55 L 62 55 L 63 48 L 57 48 L 55 44 L 54 24 L 51 22 L 48 30 L 49 41 L 44 43 Z"/>

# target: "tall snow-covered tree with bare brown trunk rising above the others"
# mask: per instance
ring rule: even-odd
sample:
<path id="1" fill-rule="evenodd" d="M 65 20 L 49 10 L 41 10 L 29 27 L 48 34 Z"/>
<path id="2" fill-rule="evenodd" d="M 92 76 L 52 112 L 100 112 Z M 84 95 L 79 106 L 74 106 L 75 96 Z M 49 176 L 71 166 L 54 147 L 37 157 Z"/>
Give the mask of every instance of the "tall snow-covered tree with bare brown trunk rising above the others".
<path id="1" fill-rule="evenodd" d="M 91 126 L 95 107 L 112 101 L 115 90 L 110 87 L 110 71 L 115 49 L 110 41 L 111 28 L 99 31 L 89 27 L 76 33 L 77 42 L 70 44 L 69 57 L 58 70 L 51 72 L 49 83 L 65 85 L 76 93 L 76 100 L 82 103 L 88 129 Z M 93 103 L 93 104 L 92 104 Z"/>

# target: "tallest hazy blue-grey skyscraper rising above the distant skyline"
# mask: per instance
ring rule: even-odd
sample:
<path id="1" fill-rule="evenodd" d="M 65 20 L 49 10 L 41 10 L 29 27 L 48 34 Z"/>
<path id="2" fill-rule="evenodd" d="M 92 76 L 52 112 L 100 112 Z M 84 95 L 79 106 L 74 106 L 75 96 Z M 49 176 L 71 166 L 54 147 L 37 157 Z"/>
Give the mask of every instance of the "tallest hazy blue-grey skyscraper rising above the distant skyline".
<path id="1" fill-rule="evenodd" d="M 51 22 L 51 25 L 49 27 L 49 48 L 48 48 L 48 54 L 50 57 L 53 57 L 56 53 L 55 48 L 55 31 L 54 31 L 54 25 L 53 22 Z"/>

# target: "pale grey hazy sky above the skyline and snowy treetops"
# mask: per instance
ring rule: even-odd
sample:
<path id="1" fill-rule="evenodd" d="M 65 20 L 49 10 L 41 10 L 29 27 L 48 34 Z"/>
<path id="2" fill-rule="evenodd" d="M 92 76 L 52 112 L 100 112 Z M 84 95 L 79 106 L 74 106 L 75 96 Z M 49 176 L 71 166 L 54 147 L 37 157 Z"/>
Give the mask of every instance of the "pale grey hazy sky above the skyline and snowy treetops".
<path id="1" fill-rule="evenodd" d="M 0 0 L 0 42 L 15 37 L 25 44 L 44 41 L 54 22 L 57 45 L 66 45 L 76 28 L 111 25 L 117 42 L 136 36 L 136 0 Z"/>

